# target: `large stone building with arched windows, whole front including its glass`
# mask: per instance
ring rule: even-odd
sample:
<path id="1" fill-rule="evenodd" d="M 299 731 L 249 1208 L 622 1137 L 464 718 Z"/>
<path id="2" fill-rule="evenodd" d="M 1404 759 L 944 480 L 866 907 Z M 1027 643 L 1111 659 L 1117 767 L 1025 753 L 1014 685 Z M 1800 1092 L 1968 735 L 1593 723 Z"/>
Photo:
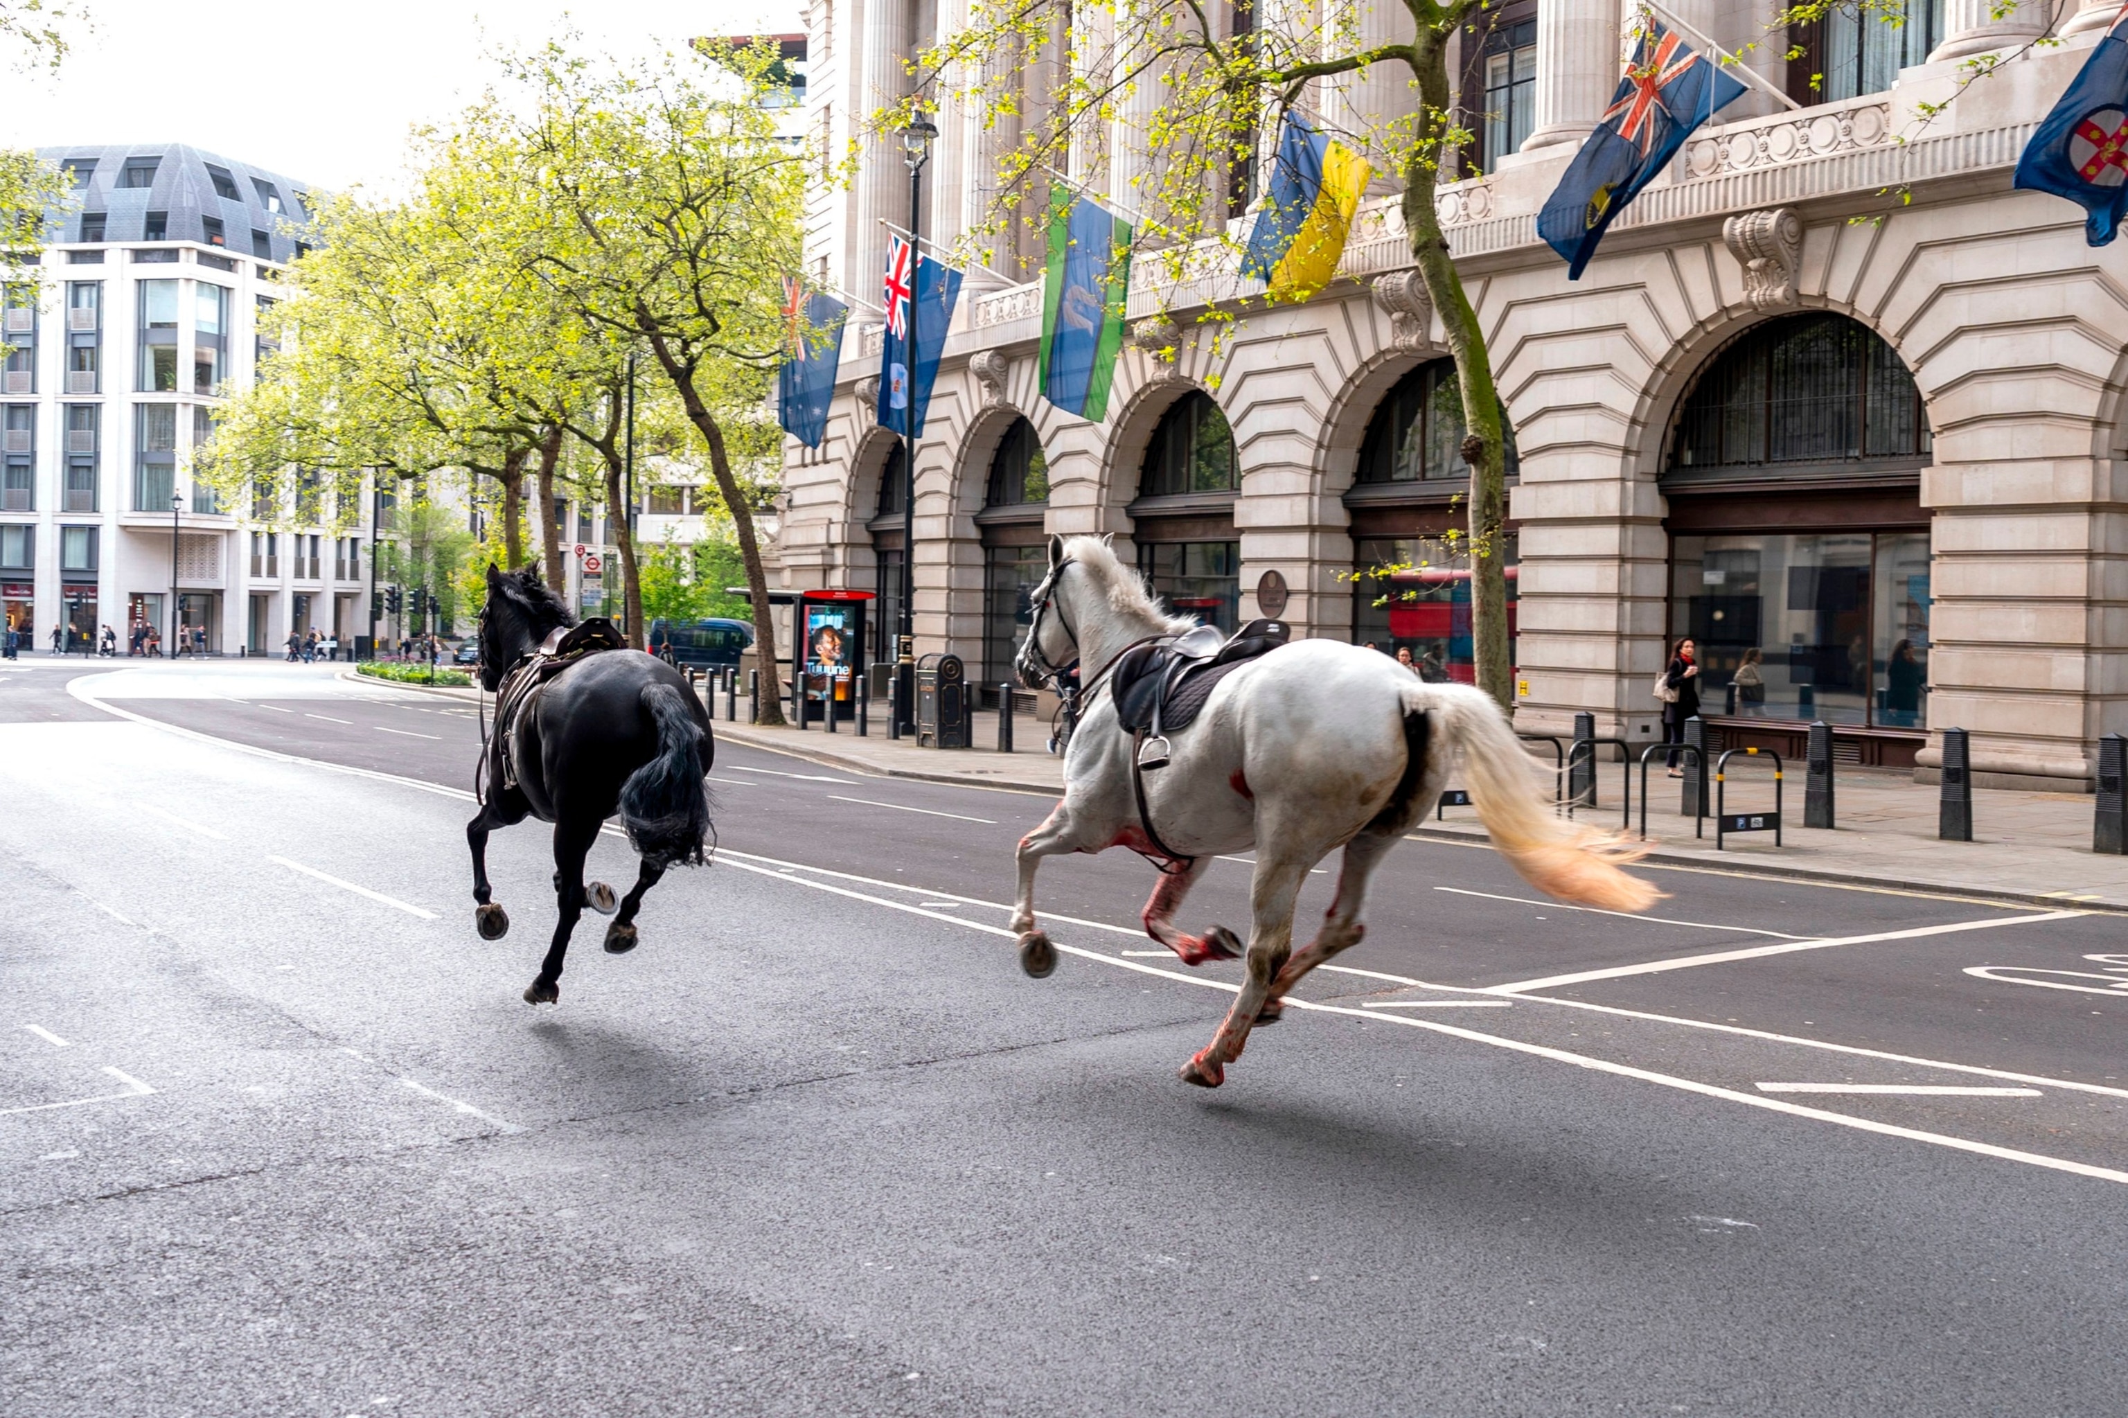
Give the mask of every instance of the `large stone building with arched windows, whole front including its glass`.
<path id="1" fill-rule="evenodd" d="M 1370 2 L 1362 28 L 1390 32 L 1402 6 Z M 1726 49 L 1758 40 L 1749 64 L 1800 106 L 1753 92 L 1717 115 L 1579 281 L 1534 219 L 1617 83 L 1619 0 L 1509 2 L 1462 36 L 1477 175 L 1441 213 L 1513 428 L 1519 726 L 1592 711 L 1600 735 L 1658 739 L 1651 681 L 1694 634 L 1707 713 L 1739 743 L 1788 747 L 1822 718 L 1841 758 L 1926 769 L 1928 735 L 1964 726 L 1979 781 L 2081 790 L 2096 739 L 2128 730 L 2128 255 L 2009 185 L 2115 11 L 2071 4 L 2062 43 L 2032 47 L 2054 6 L 1911 4 L 1902 26 L 1764 36 L 1739 0 L 1675 0 Z M 811 143 L 845 143 L 953 15 L 817 0 Z M 1964 83 L 1988 53 L 2007 57 Z M 1360 130 L 1404 94 L 1373 77 L 1317 106 Z M 951 106 L 941 130 L 924 226 L 949 243 L 1011 130 Z M 1096 187 L 1128 189 L 1132 132 L 1126 111 Z M 890 603 L 904 464 L 866 396 L 887 224 L 909 219 L 898 158 L 877 145 L 813 204 L 815 279 L 864 304 L 828 441 L 787 445 L 781 543 L 787 583 Z M 1221 341 L 1187 300 L 1173 330 L 1141 324 L 1102 424 L 1036 394 L 1041 283 L 1015 243 L 977 251 L 992 270 L 970 275 L 917 445 L 919 652 L 1004 677 L 1045 534 L 1104 532 L 1204 617 L 1283 594 L 1300 632 L 1466 673 L 1464 581 L 1430 541 L 1464 517 L 1458 402 L 1436 398 L 1453 368 L 1394 194 L 1317 298 Z M 1134 317 L 1160 309 L 1134 290 Z M 1732 686 L 1745 662 L 1758 686 Z"/>

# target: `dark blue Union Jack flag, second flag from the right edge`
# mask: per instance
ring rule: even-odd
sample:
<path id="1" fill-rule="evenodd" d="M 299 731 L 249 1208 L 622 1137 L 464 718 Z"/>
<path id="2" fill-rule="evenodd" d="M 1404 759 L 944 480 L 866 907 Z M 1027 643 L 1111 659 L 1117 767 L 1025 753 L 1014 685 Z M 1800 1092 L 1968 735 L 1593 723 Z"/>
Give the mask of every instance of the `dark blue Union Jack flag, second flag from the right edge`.
<path id="1" fill-rule="evenodd" d="M 1611 106 L 1536 215 L 1536 234 L 1568 262 L 1568 281 L 1581 279 L 1626 202 L 1670 164 L 1694 128 L 1739 94 L 1743 85 L 1730 75 L 1647 21 Z"/>

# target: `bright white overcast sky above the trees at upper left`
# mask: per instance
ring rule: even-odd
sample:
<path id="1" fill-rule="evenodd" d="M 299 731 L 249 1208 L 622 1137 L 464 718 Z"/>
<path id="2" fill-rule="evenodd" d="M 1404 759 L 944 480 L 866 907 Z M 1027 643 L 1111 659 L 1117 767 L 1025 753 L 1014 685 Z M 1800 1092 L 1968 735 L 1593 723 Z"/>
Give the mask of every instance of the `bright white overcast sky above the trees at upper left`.
<path id="1" fill-rule="evenodd" d="M 498 45 L 575 23 L 592 51 L 651 53 L 698 34 L 796 32 L 798 0 L 283 0 L 200 6 L 85 0 L 57 75 L 0 72 L 0 147 L 192 143 L 345 189 L 396 185 L 406 130 L 445 119 Z"/>

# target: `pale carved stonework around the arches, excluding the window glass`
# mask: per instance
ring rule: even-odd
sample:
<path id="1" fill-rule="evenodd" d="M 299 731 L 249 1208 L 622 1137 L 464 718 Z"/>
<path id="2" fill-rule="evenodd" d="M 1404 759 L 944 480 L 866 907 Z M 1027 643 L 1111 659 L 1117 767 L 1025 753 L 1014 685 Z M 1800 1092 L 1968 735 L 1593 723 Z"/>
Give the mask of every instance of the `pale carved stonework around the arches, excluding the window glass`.
<path id="1" fill-rule="evenodd" d="M 1577 15 L 1600 9 L 1570 2 Z M 1985 6 L 1966 9 L 1973 26 L 1988 19 Z M 1583 43 L 1585 30 L 1541 28 L 1541 77 L 1545 36 Z M 1962 43 L 1951 30 L 1945 47 Z M 1926 419 L 1926 451 L 1896 492 L 1928 537 L 1917 592 L 1928 698 L 1905 758 L 1885 762 L 1919 749 L 1926 766 L 1922 722 L 1956 724 L 1973 732 L 1981 773 L 2088 781 L 2098 737 L 2128 730 L 2128 247 L 2088 247 L 2079 209 L 2013 192 L 2009 175 L 2094 40 L 2083 32 L 2019 53 L 1958 98 L 1964 75 L 1943 60 L 1902 70 L 1883 94 L 1709 126 L 1619 217 L 1579 281 L 1534 230 L 1573 141 L 1536 143 L 1443 187 L 1449 249 L 1519 449 L 1509 509 L 1519 722 L 1560 732 L 1592 711 L 1600 735 L 1660 732 L 1649 681 L 1688 613 L 1675 590 L 1688 534 L 1673 477 L 1681 409 L 1722 351 L 1764 321 L 1839 315 L 1911 373 Z M 1553 134 L 1585 128 L 1592 117 L 1575 104 L 1609 94 L 1611 81 L 1590 83 L 1581 68 L 1543 89 Z M 813 102 L 834 98 L 843 113 L 847 81 L 815 66 Z M 1926 117 L 1934 104 L 1947 106 Z M 849 281 L 872 300 L 877 273 Z M 1356 532 L 1364 498 L 1349 494 L 1368 424 L 1400 377 L 1447 356 L 1394 196 L 1362 209 L 1341 279 L 1304 304 L 1194 324 L 1190 309 L 1166 313 L 1134 292 L 1102 424 L 1036 394 L 1041 309 L 1038 281 L 972 296 L 947 343 L 915 468 L 919 649 L 983 654 L 996 539 L 985 543 L 977 513 L 1015 417 L 1047 460 L 1043 526 L 1109 532 L 1130 551 L 1138 468 L 1185 390 L 1207 390 L 1234 432 L 1241 613 L 1258 613 L 1251 588 L 1277 571 L 1298 634 L 1351 639 L 1358 539 L 1373 532 Z M 868 530 L 892 439 L 860 396 L 877 377 L 877 334 L 862 319 L 826 447 L 785 466 L 794 586 L 872 586 L 879 551 L 892 549 Z M 1768 466 L 1760 481 L 1779 479 Z M 1881 500 L 1868 479 L 1836 481 L 1809 496 Z M 1719 502 L 1705 490 L 1694 500 Z"/>

